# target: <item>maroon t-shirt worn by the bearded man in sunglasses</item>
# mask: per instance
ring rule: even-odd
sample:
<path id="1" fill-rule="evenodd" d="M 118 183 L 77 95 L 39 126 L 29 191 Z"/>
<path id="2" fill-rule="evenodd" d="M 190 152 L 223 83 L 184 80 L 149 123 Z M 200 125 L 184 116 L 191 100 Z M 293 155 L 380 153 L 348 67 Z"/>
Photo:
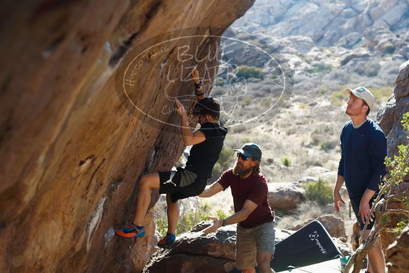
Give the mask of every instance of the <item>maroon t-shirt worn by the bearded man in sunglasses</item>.
<path id="1" fill-rule="evenodd" d="M 230 186 L 234 212 L 242 210 L 247 199 L 257 204 L 257 208 L 250 213 L 246 220 L 238 223 L 239 226 L 249 229 L 274 220 L 267 198 L 268 187 L 264 175 L 250 175 L 245 179 L 241 179 L 233 173 L 232 169 L 229 169 L 216 182 L 222 185 L 223 190 Z"/>

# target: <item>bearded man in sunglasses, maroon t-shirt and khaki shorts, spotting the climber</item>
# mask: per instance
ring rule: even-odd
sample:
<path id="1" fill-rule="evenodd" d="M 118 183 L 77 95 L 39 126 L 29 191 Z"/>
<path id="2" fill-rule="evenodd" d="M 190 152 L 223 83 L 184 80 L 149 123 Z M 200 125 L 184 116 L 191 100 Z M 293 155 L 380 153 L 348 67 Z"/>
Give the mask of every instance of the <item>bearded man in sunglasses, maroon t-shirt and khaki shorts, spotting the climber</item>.
<path id="1" fill-rule="evenodd" d="M 204 233 L 221 226 L 237 224 L 236 266 L 243 272 L 254 272 L 256 263 L 261 272 L 272 272 L 270 261 L 274 255 L 274 216 L 267 199 L 267 180 L 260 173 L 261 150 L 254 143 L 246 143 L 237 151 L 233 169 L 225 171 L 200 197 L 210 197 L 229 186 L 233 195 L 234 214 L 219 220 L 210 217 L 213 225 Z"/>

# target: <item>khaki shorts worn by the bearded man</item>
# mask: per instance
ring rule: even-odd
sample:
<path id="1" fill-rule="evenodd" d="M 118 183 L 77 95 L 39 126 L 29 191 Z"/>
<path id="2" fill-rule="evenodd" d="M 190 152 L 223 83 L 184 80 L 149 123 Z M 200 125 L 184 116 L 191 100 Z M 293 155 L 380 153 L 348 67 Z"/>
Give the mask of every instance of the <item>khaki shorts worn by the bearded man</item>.
<path id="1" fill-rule="evenodd" d="M 274 222 L 263 223 L 252 229 L 237 226 L 236 267 L 238 270 L 254 268 L 259 251 L 274 255 Z"/>

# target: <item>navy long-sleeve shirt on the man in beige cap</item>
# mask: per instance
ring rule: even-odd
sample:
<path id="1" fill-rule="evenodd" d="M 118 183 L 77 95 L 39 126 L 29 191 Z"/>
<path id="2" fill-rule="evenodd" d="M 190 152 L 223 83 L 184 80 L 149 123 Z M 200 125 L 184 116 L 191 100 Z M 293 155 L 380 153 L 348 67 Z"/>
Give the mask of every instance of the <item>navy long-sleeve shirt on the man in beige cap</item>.
<path id="1" fill-rule="evenodd" d="M 362 196 L 366 189 L 379 192 L 381 176 L 386 174 L 387 138 L 380 127 L 367 120 L 359 128 L 352 121 L 341 131 L 341 160 L 338 175 L 344 176 L 350 198 Z"/>

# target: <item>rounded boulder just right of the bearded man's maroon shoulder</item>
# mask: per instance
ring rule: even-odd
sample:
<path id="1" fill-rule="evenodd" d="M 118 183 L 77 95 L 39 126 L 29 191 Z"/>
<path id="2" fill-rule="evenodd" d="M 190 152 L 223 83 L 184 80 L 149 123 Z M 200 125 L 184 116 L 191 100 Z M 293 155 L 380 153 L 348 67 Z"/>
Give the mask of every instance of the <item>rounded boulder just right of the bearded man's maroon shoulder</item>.
<path id="1" fill-rule="evenodd" d="M 290 211 L 305 200 L 305 190 L 293 182 L 269 183 L 268 198 L 272 210 Z"/>

